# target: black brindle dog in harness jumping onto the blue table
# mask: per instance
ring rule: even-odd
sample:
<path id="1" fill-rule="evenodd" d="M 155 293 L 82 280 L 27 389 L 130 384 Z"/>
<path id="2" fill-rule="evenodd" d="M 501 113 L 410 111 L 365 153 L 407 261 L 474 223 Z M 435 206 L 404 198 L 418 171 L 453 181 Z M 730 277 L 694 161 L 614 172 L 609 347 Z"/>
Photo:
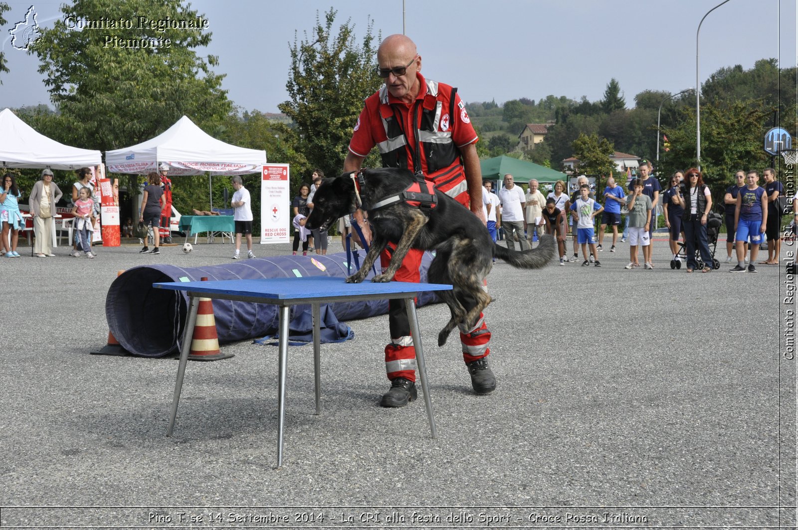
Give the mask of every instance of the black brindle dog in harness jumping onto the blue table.
<path id="1" fill-rule="evenodd" d="M 530 251 L 511 251 L 497 245 L 488 228 L 472 212 L 438 190 L 435 193 L 437 205 L 431 209 L 406 202 L 373 208 L 386 197 L 404 192 L 416 177 L 400 168 L 364 169 L 360 176 L 359 194 L 355 184 L 358 176 L 352 172 L 325 179 L 314 195 L 313 212 L 305 227 L 326 231 L 335 220 L 358 208 L 368 212 L 374 239 L 362 267 L 346 279 L 347 283 L 361 283 L 389 242 L 397 243 L 397 248 L 388 270 L 374 276 L 373 282 L 391 281 L 410 248 L 434 249 L 436 256 L 429 266 L 429 282 L 450 283 L 454 287 L 452 291 L 437 293 L 452 311 L 452 318 L 438 334 L 438 346 L 444 345 L 458 324 L 471 329 L 482 310 L 491 303 L 490 295 L 482 286 L 491 271 L 494 256 L 513 267 L 538 269 L 554 255 L 555 240 L 548 234 Z"/>

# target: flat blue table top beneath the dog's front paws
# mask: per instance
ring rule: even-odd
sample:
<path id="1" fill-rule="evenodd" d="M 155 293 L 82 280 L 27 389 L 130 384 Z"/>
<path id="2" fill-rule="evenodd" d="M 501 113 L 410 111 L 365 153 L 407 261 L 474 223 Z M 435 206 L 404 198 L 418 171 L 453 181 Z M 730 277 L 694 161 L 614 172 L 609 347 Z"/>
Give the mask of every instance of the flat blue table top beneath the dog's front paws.
<path id="1" fill-rule="evenodd" d="M 314 276 L 310 278 L 227 279 L 210 282 L 153 283 L 159 289 L 191 291 L 217 295 L 247 296 L 285 300 L 331 299 L 350 296 L 403 295 L 423 291 L 451 291 L 441 283 L 346 283 L 343 278 Z"/>

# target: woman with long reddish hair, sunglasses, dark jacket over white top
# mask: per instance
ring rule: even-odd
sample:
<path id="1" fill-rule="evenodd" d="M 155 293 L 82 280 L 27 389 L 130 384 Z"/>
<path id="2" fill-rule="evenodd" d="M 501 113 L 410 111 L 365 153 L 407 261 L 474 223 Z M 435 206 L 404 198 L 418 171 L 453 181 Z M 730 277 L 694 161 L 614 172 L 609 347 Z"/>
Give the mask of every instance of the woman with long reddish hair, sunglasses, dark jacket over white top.
<path id="1" fill-rule="evenodd" d="M 685 209 L 681 215 L 681 227 L 685 231 L 687 244 L 687 272 L 693 272 L 698 263 L 696 261 L 696 244 L 704 261 L 701 272 L 712 271 L 712 253 L 709 251 L 709 239 L 706 235 L 706 223 L 709 211 L 712 209 L 712 194 L 709 186 L 704 184 L 701 172 L 696 168 L 687 170 L 685 186 L 674 193 L 674 203 Z"/>

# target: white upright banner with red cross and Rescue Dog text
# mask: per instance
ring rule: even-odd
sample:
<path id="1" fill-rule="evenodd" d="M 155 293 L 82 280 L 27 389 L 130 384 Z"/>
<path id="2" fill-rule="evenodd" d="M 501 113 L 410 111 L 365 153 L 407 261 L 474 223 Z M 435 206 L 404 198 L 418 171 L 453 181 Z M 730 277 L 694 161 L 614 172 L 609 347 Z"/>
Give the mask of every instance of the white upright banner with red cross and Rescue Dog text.
<path id="1" fill-rule="evenodd" d="M 288 164 L 266 164 L 260 180 L 260 243 L 288 243 L 291 223 Z"/>

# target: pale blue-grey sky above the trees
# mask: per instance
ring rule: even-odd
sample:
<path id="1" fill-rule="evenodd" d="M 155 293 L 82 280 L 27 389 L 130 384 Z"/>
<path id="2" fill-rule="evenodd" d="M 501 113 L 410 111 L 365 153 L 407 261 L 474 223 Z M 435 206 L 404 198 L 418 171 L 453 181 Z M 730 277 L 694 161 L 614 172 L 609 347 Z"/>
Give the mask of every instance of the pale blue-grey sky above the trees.
<path id="1" fill-rule="evenodd" d="M 7 0 L 6 0 L 7 1 Z M 406 33 L 417 43 L 422 72 L 459 87 L 465 101 L 503 103 L 548 94 L 591 101 L 615 77 L 627 106 L 644 89 L 678 92 L 696 82 L 696 30 L 721 0 L 405 0 Z M 38 59 L 11 47 L 8 30 L 33 4 L 41 26 L 60 16 L 60 0 L 10 0 L 0 28 L 10 73 L 2 77 L 0 108 L 49 103 Z M 288 45 L 314 26 L 316 12 L 334 6 L 351 18 L 358 38 L 369 17 L 374 33 L 402 32 L 402 2 L 263 2 L 194 0 L 206 15 L 228 97 L 244 109 L 277 112 L 287 99 Z M 780 17 L 779 17 L 780 13 Z M 113 14 L 109 14 L 113 16 Z M 98 31 L 98 30 L 95 30 Z M 763 57 L 796 65 L 796 0 L 730 0 L 701 26 L 700 78 L 722 66 L 746 69 Z"/>

